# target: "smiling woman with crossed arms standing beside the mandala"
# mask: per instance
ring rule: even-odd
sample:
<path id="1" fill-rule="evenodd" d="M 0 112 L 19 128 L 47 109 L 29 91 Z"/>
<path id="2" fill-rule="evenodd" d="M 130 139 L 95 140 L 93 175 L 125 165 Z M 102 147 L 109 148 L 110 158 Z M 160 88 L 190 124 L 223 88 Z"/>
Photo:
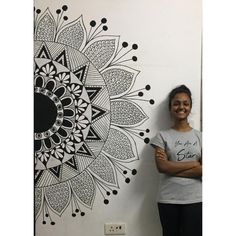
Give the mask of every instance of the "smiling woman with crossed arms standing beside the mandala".
<path id="1" fill-rule="evenodd" d="M 181 85 L 169 94 L 173 126 L 152 144 L 160 172 L 158 209 L 163 236 L 202 235 L 201 133 L 188 123 L 191 91 Z"/>

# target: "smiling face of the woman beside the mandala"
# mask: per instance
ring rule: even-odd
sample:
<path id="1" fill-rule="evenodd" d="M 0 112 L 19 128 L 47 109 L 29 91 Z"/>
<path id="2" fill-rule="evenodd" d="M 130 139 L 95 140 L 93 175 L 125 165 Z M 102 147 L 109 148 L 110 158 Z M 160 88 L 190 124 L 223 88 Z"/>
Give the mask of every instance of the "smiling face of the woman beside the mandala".
<path id="1" fill-rule="evenodd" d="M 191 107 L 189 96 L 186 93 L 177 93 L 171 100 L 170 113 L 175 120 L 186 120 Z"/>

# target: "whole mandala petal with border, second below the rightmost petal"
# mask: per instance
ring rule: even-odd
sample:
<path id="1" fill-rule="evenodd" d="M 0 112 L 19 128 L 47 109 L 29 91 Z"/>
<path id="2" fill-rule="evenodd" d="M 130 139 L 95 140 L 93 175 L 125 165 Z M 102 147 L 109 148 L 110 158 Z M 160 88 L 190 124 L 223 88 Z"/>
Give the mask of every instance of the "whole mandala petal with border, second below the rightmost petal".
<path id="1" fill-rule="evenodd" d="M 112 162 L 103 154 L 100 154 L 88 168 L 100 181 L 108 185 L 118 187 L 116 170 Z"/>

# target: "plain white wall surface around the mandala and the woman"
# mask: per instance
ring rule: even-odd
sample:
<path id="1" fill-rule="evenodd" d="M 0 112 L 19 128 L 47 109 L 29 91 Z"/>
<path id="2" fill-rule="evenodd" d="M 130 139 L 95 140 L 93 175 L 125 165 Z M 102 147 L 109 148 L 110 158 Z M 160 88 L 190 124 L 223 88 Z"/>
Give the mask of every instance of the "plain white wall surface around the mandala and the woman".
<path id="1" fill-rule="evenodd" d="M 73 20 L 83 15 L 85 25 L 90 20 L 106 17 L 108 31 L 105 34 L 120 35 L 120 41 L 137 43 L 138 61 L 127 64 L 140 74 L 133 90 L 151 85 L 144 98 L 154 99 L 155 104 L 140 102 L 149 119 L 142 128 L 149 128 L 152 138 L 157 129 L 170 124 L 165 99 L 175 86 L 186 84 L 193 93 L 193 110 L 190 122 L 200 128 L 200 80 L 201 80 L 201 1 L 199 0 L 36 0 L 36 8 L 47 7 L 55 12 L 67 4 L 67 15 Z M 37 236 L 102 236 L 106 222 L 125 222 L 128 236 L 161 235 L 156 207 L 158 175 L 153 150 L 137 139 L 140 160 L 129 164 L 138 174 L 130 184 L 120 181 L 117 196 L 109 205 L 96 199 L 84 217 L 71 217 L 66 211 L 56 217 L 56 225 L 36 222 Z"/>

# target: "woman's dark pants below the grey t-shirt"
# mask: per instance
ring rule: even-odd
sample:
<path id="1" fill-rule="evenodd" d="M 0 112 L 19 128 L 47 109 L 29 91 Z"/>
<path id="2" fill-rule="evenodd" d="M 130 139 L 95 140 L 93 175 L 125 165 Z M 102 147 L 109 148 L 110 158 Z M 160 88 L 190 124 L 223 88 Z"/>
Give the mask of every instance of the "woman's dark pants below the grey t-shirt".
<path id="1" fill-rule="evenodd" d="M 202 236 L 202 203 L 158 203 L 163 236 Z"/>

